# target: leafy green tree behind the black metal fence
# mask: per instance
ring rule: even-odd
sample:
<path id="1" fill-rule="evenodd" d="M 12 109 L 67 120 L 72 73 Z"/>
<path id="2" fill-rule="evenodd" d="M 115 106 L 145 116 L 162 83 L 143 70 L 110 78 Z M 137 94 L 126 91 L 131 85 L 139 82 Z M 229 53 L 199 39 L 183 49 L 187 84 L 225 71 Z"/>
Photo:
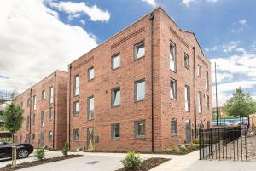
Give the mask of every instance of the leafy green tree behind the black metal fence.
<path id="1" fill-rule="evenodd" d="M 233 117 L 249 117 L 250 114 L 256 112 L 256 103 L 249 93 L 245 93 L 239 87 L 224 104 L 224 111 Z"/>

